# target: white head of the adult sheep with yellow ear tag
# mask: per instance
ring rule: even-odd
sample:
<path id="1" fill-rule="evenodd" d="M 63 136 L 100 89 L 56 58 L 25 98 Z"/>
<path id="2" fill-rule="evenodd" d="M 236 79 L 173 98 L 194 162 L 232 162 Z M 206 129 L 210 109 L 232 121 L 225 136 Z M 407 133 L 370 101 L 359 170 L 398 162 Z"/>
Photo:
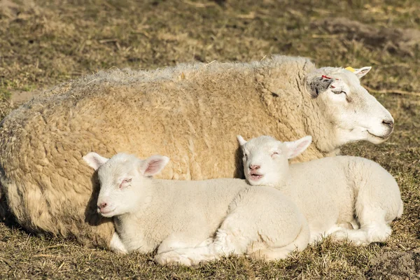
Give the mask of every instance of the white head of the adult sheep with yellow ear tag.
<path id="1" fill-rule="evenodd" d="M 370 69 L 323 67 L 308 74 L 309 94 L 318 104 L 318 112 L 323 115 L 325 123 L 332 125 L 333 131 L 325 135 L 332 141 L 330 146 L 337 148 L 359 140 L 379 144 L 393 132 L 391 113 L 360 85 L 359 79 Z M 307 132 L 316 135 L 315 130 L 319 130 L 316 124 L 308 126 Z M 311 131 L 311 126 L 314 131 Z M 330 150 L 322 145 L 316 143 L 321 150 Z"/>

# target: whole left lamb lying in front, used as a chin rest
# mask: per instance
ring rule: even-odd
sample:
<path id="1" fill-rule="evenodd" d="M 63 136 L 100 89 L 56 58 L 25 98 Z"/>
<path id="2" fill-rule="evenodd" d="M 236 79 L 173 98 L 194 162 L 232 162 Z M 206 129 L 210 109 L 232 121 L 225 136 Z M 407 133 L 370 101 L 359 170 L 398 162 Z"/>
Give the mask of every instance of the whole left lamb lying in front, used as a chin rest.
<path id="1" fill-rule="evenodd" d="M 241 179 L 153 179 L 169 158 L 118 153 L 83 157 L 98 172 L 98 212 L 114 217 L 113 251 L 151 253 L 161 265 L 197 265 L 229 253 L 279 260 L 309 241 L 296 205 L 274 188 Z M 214 237 L 214 239 L 213 239 Z"/>

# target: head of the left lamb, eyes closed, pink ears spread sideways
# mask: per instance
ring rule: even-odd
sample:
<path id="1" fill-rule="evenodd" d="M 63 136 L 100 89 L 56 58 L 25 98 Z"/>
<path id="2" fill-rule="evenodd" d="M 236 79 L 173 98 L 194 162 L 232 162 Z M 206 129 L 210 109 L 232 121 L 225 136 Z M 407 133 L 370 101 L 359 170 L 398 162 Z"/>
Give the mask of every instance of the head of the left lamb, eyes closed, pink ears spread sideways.
<path id="1" fill-rule="evenodd" d="M 169 158 L 162 155 L 140 160 L 125 153 L 110 159 L 88 153 L 83 160 L 98 172 L 101 190 L 97 207 L 98 213 L 105 217 L 130 213 L 146 204 L 151 192 L 148 177 L 158 174 L 169 162 Z"/>

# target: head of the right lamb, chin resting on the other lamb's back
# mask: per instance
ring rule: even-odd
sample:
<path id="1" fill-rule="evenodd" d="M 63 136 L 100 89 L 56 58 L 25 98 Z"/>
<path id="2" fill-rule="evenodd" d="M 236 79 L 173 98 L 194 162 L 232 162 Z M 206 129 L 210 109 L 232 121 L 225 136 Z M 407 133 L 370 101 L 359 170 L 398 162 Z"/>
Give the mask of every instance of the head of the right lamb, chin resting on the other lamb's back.
<path id="1" fill-rule="evenodd" d="M 312 137 L 281 142 L 269 136 L 245 141 L 237 137 L 244 154 L 244 173 L 253 186 L 279 186 L 288 179 L 288 159 L 300 155 L 311 144 Z"/>

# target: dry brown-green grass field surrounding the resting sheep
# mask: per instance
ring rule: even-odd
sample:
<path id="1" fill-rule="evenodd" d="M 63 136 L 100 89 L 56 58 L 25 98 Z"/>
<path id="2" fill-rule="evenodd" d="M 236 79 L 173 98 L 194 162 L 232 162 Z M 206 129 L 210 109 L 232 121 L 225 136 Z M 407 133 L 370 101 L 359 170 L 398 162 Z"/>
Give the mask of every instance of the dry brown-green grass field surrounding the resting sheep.
<path id="1" fill-rule="evenodd" d="M 299 3 L 297 3 L 299 2 Z M 159 267 L 0 223 L 0 279 L 420 279 L 420 1 L 0 0 L 0 119 L 43 89 L 111 67 L 311 57 L 318 66 L 372 66 L 363 85 L 395 118 L 386 143 L 347 155 L 397 179 L 405 213 L 384 244 L 326 240 L 279 262 L 225 258 Z"/>

